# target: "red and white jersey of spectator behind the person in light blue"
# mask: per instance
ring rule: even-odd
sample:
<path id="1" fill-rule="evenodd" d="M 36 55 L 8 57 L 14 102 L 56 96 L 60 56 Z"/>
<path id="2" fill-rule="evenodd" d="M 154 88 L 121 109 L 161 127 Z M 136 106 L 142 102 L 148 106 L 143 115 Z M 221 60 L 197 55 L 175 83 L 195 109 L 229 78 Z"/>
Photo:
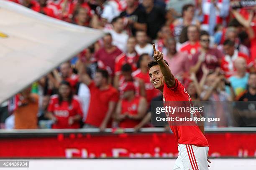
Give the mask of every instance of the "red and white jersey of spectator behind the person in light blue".
<path id="1" fill-rule="evenodd" d="M 248 67 L 251 67 L 253 65 L 253 61 L 249 60 L 249 57 L 247 55 L 238 52 L 238 50 L 235 50 L 233 56 L 230 57 L 229 55 L 225 55 L 225 57 L 223 57 L 223 59 L 221 60 L 220 66 L 225 73 L 225 77 L 228 78 L 235 73 L 236 70 L 234 68 L 234 61 L 238 57 L 243 57 L 246 60 Z"/>

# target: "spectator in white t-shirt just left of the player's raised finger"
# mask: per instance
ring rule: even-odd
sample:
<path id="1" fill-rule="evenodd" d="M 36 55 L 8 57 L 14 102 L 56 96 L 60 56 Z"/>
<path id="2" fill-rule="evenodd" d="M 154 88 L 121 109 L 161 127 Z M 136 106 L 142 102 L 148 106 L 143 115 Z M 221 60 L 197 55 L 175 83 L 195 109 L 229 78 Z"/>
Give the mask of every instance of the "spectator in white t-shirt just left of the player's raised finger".
<path id="1" fill-rule="evenodd" d="M 136 40 L 138 44 L 135 46 L 135 50 L 138 55 L 146 53 L 149 56 L 153 56 L 152 45 L 147 43 L 147 34 L 145 31 L 137 31 Z"/>

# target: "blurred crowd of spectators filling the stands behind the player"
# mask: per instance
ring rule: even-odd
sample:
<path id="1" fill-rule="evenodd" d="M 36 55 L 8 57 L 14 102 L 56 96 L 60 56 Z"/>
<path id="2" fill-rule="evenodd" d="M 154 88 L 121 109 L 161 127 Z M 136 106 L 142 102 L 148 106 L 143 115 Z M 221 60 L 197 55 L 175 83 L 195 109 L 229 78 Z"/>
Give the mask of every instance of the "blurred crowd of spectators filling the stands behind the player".
<path id="1" fill-rule="evenodd" d="M 151 101 L 162 100 L 148 76 L 152 43 L 192 100 L 256 101 L 255 6 L 234 0 L 12 1 L 105 35 L 2 103 L 0 128 L 152 127 Z M 230 123 L 226 110 L 215 105 L 211 113 L 225 114 L 221 126 L 256 125 L 256 113 L 240 113 Z"/>

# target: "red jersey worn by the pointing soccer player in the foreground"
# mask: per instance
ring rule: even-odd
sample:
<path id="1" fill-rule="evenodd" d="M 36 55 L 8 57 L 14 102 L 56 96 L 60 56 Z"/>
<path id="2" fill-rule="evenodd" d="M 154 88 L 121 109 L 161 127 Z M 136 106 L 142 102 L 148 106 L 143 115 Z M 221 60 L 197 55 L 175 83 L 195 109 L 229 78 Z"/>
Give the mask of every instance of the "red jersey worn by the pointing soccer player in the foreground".
<path id="1" fill-rule="evenodd" d="M 166 102 L 172 101 L 191 101 L 187 91 L 184 86 L 175 79 L 174 87 L 169 88 L 164 83 L 164 92 L 163 92 L 163 102 L 164 107 L 168 106 Z M 176 105 L 175 105 L 176 106 Z M 171 106 L 171 107 L 175 107 Z M 182 105 L 183 107 L 183 105 Z M 174 113 L 179 114 L 179 113 Z M 188 113 L 190 114 L 190 113 Z M 175 115 L 179 116 L 179 115 Z M 170 128 L 179 144 L 190 144 L 195 146 L 208 146 L 207 139 L 205 135 L 201 132 L 200 128 L 194 121 L 186 121 L 187 125 L 173 125 L 172 121 L 169 121 Z"/>

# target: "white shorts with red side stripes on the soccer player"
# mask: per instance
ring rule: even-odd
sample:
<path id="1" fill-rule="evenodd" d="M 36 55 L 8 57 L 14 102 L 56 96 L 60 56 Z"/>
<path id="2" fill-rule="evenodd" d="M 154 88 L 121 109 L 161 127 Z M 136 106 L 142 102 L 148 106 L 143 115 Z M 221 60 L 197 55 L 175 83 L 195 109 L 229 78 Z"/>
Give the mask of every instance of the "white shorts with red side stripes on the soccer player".
<path id="1" fill-rule="evenodd" d="M 209 147 L 179 144 L 179 156 L 173 170 L 208 170 Z"/>

